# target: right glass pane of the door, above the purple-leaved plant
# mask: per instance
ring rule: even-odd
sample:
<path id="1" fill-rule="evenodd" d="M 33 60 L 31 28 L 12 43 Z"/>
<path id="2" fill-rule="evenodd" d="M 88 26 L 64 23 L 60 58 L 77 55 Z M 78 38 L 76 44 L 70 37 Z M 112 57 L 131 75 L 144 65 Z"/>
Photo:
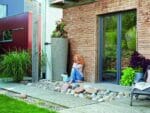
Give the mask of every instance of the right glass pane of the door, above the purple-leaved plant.
<path id="1" fill-rule="evenodd" d="M 122 14 L 122 69 L 129 66 L 131 54 L 136 50 L 136 12 Z"/>

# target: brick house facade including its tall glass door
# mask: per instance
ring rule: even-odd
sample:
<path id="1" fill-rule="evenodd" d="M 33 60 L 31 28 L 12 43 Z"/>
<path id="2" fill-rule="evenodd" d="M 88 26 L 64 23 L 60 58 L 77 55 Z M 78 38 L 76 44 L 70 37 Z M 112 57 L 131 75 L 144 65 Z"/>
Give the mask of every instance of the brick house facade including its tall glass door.
<path id="1" fill-rule="evenodd" d="M 63 0 L 51 4 L 64 9 L 70 57 L 83 55 L 86 81 L 119 83 L 121 69 L 128 66 L 133 51 L 150 58 L 149 0 Z"/>

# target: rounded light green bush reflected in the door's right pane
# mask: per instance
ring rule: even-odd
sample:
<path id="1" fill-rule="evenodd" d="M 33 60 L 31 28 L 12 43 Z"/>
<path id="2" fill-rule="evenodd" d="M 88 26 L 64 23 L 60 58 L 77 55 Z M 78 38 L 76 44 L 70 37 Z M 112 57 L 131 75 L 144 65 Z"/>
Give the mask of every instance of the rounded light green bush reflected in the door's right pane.
<path id="1" fill-rule="evenodd" d="M 129 50 L 136 50 L 136 28 L 135 26 L 129 29 L 125 34 L 127 46 Z"/>

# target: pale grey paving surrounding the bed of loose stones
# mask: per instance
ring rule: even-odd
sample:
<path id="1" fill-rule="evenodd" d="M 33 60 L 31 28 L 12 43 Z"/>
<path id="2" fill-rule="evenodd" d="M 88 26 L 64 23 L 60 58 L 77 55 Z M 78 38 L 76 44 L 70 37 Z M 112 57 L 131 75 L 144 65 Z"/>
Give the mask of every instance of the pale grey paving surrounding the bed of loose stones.
<path id="1" fill-rule="evenodd" d="M 121 87 L 118 85 L 105 83 L 84 83 L 82 85 L 92 85 L 97 88 L 121 92 L 130 92 L 131 90 L 131 87 Z M 145 100 L 144 98 L 134 100 L 133 106 L 131 107 L 129 106 L 130 98 L 121 98 L 112 102 L 98 103 L 95 101 L 22 84 L 0 82 L 0 88 L 18 93 L 26 93 L 29 96 L 68 107 L 67 109 L 59 111 L 59 113 L 150 113 L 150 100 Z"/>

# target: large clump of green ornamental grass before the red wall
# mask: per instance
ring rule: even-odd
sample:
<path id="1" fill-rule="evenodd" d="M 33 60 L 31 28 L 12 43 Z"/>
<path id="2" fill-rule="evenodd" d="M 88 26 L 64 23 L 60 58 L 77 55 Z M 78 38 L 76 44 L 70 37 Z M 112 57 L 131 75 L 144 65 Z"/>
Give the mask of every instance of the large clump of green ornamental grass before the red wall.
<path id="1" fill-rule="evenodd" d="M 8 52 L 2 55 L 0 61 L 1 75 L 12 77 L 15 82 L 23 80 L 28 68 L 31 67 L 31 58 L 28 52 Z"/>

